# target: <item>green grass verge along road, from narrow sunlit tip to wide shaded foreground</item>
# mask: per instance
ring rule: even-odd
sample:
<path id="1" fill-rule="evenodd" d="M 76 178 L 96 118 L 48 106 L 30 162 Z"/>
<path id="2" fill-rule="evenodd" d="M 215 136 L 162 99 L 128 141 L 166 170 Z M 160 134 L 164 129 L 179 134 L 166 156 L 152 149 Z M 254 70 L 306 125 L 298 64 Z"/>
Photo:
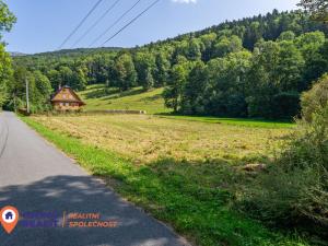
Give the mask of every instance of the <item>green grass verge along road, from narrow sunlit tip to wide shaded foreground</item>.
<path id="1" fill-rule="evenodd" d="M 197 245 L 307 245 L 297 236 L 285 236 L 237 213 L 231 206 L 234 195 L 229 188 L 197 178 L 213 177 L 214 173 L 222 184 L 234 184 L 239 177 L 225 163 L 190 165 L 160 160 L 136 166 L 108 150 L 82 143 L 31 118 L 22 119 L 93 175 L 112 180 L 121 196 L 172 224 Z"/>

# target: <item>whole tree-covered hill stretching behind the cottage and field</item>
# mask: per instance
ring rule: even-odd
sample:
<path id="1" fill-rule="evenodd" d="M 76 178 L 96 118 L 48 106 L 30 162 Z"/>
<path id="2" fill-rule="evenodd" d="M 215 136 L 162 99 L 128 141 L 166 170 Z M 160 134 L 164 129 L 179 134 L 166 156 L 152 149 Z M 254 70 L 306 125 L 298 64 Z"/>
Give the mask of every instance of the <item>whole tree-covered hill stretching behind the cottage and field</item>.
<path id="1" fill-rule="evenodd" d="M 23 102 L 27 73 L 35 109 L 59 84 L 106 83 L 121 91 L 164 86 L 166 106 L 183 114 L 290 118 L 301 93 L 328 72 L 327 36 L 327 24 L 306 13 L 274 10 L 143 47 L 15 57 L 11 95 Z"/>

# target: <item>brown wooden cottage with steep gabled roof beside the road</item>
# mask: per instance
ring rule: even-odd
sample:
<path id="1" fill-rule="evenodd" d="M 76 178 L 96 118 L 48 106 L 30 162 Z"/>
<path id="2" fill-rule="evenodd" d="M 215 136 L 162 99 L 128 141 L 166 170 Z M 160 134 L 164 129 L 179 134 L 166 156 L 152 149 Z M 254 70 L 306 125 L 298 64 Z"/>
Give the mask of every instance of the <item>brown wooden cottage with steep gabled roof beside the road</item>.
<path id="1" fill-rule="evenodd" d="M 51 104 L 55 110 L 58 112 L 78 112 L 81 110 L 85 103 L 80 96 L 70 87 L 60 87 L 52 96 Z"/>

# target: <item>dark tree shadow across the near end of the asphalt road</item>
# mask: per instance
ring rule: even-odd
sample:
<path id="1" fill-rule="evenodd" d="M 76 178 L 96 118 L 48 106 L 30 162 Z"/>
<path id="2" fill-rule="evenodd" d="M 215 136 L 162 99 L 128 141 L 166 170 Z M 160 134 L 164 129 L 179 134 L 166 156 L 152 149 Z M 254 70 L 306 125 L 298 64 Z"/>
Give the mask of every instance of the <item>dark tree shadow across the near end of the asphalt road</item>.
<path id="1" fill-rule="evenodd" d="M 23 212 L 101 213 L 115 220 L 115 229 L 26 229 L 21 222 L 8 235 L 0 230 L 0 245 L 20 246 L 164 246 L 184 245 L 162 223 L 122 201 L 98 179 L 90 176 L 52 176 L 28 185 L 0 187 L 0 207 Z"/>

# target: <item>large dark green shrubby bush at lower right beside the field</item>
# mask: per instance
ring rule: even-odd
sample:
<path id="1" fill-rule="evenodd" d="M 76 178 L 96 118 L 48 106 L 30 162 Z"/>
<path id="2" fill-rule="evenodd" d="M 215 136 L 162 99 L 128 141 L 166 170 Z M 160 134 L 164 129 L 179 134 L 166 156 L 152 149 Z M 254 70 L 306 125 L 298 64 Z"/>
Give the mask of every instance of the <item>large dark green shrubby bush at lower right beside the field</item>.
<path id="1" fill-rule="evenodd" d="M 328 106 L 312 122 L 300 121 L 286 144 L 246 191 L 242 208 L 274 225 L 303 224 L 328 236 Z"/>

